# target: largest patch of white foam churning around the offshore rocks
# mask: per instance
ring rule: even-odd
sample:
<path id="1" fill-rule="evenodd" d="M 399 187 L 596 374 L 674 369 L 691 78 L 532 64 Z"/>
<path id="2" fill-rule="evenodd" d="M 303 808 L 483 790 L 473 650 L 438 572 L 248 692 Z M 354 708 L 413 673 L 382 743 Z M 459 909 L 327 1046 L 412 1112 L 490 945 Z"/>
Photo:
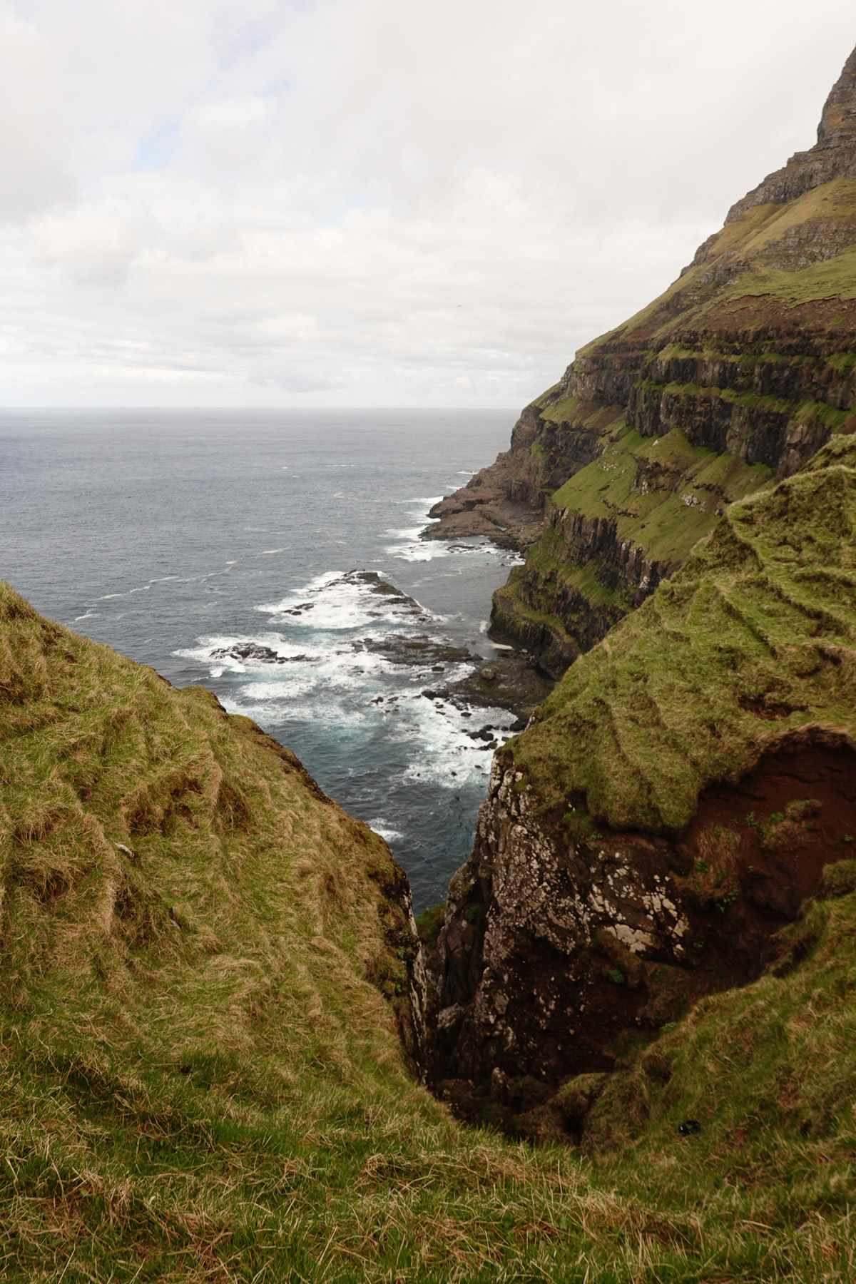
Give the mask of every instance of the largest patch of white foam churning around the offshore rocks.
<path id="1" fill-rule="evenodd" d="M 355 764 L 376 760 L 379 738 L 395 742 L 397 778 L 404 785 L 422 782 L 456 791 L 483 782 L 492 752 L 472 733 L 490 728 L 502 742 L 513 715 L 502 709 L 458 709 L 424 696 L 422 690 L 471 674 L 479 659 L 444 661 L 440 677 L 430 652 L 421 664 L 404 664 L 394 650 L 373 648 L 372 643 L 389 641 L 390 634 L 427 633 L 438 643 L 448 639 L 438 632 L 441 616 L 403 594 L 372 592 L 377 582 L 359 574 L 325 571 L 259 607 L 275 628 L 204 637 L 176 654 L 205 665 L 212 678 L 236 679 L 232 691 L 221 696 L 230 713 L 248 714 L 268 727 L 321 724 L 348 740 Z M 258 648 L 257 654 L 240 655 L 248 647 Z M 398 837 L 389 822 L 379 819 L 375 827 Z"/>

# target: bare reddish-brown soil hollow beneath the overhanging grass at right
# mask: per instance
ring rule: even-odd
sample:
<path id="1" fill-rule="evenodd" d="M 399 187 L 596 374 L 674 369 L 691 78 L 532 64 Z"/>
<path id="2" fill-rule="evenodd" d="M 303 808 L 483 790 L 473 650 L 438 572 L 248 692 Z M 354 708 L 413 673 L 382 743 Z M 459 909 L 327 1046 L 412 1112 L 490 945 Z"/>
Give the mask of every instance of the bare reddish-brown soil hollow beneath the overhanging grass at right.
<path id="1" fill-rule="evenodd" d="M 599 978 L 586 999 L 594 1031 L 575 1057 L 578 1072 L 608 1068 L 633 1026 L 653 1034 L 785 953 L 779 930 L 815 895 L 824 865 L 856 849 L 856 752 L 834 734 L 820 741 L 769 752 L 737 785 L 702 794 L 689 828 L 663 851 L 690 923 L 689 957 L 683 967 L 646 962 L 638 989 Z"/>

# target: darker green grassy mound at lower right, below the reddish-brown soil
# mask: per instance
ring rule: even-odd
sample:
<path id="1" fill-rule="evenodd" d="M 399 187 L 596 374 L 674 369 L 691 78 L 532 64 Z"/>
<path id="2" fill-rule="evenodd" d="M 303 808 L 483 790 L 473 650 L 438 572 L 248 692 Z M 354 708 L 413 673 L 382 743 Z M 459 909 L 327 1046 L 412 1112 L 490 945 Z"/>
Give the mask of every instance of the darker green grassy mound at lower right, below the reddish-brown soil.
<path id="1" fill-rule="evenodd" d="M 602 1158 L 611 1152 L 619 1166 L 628 1154 L 640 1167 L 656 1165 L 672 1199 L 687 1194 L 672 1157 L 692 1156 L 697 1190 L 707 1186 L 715 1202 L 730 1204 L 738 1222 L 848 1221 L 856 1193 L 852 882 L 850 892 L 812 904 L 787 928 L 791 955 L 760 981 L 702 999 L 611 1079 L 589 1116 L 586 1147 Z M 692 1140 L 678 1132 L 687 1118 L 701 1124 Z"/>

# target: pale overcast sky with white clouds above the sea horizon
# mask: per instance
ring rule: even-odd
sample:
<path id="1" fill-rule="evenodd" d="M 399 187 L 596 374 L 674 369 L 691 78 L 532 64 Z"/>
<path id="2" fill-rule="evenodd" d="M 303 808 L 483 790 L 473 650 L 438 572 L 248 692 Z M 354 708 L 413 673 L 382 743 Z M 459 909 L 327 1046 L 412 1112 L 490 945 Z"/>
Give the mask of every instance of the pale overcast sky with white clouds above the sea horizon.
<path id="1" fill-rule="evenodd" d="M 0 404 L 520 407 L 853 45 L 852 0 L 0 0 Z"/>

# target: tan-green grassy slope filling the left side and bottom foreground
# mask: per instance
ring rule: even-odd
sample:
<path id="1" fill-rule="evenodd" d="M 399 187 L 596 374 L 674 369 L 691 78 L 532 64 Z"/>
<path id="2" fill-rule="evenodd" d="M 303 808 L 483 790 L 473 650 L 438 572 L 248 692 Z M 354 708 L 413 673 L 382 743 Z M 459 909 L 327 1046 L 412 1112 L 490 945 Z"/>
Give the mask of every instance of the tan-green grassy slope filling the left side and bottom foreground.
<path id="1" fill-rule="evenodd" d="M 726 1135 L 711 1167 L 656 1109 L 656 1162 L 456 1125 L 398 1043 L 409 936 L 384 844 L 246 719 L 6 586 L 0 788 L 4 1279 L 850 1278 L 838 1167 L 834 1199 L 757 1159 L 724 1197 Z M 726 1039 L 715 1002 L 698 1028 Z"/>

